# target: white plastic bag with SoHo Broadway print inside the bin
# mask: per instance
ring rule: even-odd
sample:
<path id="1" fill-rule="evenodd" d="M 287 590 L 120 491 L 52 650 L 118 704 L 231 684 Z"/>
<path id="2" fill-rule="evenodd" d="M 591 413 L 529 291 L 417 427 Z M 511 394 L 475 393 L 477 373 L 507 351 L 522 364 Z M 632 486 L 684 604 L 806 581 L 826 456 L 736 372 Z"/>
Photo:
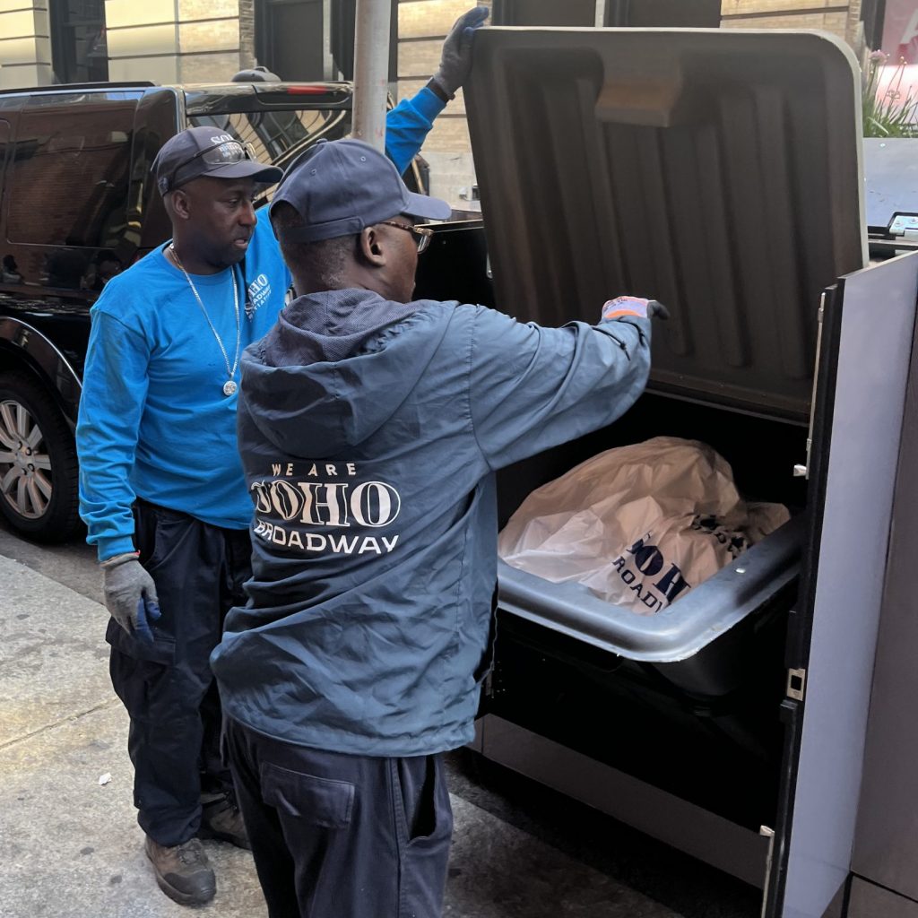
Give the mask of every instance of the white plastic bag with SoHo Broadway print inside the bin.
<path id="1" fill-rule="evenodd" d="M 500 533 L 498 553 L 651 615 L 788 520 L 780 504 L 746 504 L 710 446 L 655 437 L 533 491 Z"/>

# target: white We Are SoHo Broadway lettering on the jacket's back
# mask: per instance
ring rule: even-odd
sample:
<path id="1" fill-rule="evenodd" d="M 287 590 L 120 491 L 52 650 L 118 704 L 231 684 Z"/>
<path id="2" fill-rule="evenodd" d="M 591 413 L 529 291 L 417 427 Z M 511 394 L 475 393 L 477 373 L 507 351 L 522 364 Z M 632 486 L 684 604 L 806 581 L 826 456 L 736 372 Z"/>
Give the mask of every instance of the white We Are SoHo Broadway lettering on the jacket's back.
<path id="1" fill-rule="evenodd" d="M 398 535 L 379 532 L 397 520 L 401 498 L 383 481 L 359 481 L 355 463 L 274 463 L 253 481 L 254 534 L 310 554 L 389 554 Z M 304 532 L 319 527 L 326 532 Z M 355 534 L 354 529 L 374 534 Z"/>

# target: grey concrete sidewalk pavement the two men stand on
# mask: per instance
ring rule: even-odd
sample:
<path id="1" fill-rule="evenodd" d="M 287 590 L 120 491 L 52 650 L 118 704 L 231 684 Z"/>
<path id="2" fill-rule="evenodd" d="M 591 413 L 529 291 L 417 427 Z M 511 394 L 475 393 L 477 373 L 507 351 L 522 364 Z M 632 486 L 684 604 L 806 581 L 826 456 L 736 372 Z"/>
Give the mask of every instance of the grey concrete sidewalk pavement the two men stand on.
<path id="1" fill-rule="evenodd" d="M 204 843 L 218 883 L 208 906 L 157 888 L 106 621 L 97 602 L 0 557 L 0 914 L 265 918 L 251 856 L 230 845 Z M 445 918 L 679 918 L 472 803 L 453 796 L 453 811 Z"/>

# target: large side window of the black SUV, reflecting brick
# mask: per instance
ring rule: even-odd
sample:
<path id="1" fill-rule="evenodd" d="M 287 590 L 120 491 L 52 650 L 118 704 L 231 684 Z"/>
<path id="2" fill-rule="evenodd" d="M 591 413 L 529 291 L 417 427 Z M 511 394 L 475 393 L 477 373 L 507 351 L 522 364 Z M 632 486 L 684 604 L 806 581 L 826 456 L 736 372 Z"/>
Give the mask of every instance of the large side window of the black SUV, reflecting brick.
<path id="1" fill-rule="evenodd" d="M 7 241 L 92 249 L 118 246 L 129 232 L 136 106 L 136 95 L 117 93 L 33 98 L 19 116 L 9 163 L 12 174 L 6 186 L 13 193 Z M 73 270 L 77 261 L 73 256 Z"/>

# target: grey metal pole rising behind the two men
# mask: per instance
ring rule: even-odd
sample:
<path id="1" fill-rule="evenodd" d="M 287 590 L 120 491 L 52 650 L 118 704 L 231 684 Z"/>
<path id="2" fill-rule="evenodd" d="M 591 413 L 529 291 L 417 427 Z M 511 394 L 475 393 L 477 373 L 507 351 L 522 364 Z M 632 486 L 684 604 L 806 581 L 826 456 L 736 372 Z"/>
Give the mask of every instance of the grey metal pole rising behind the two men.
<path id="1" fill-rule="evenodd" d="M 351 136 L 386 151 L 390 0 L 357 0 Z"/>

